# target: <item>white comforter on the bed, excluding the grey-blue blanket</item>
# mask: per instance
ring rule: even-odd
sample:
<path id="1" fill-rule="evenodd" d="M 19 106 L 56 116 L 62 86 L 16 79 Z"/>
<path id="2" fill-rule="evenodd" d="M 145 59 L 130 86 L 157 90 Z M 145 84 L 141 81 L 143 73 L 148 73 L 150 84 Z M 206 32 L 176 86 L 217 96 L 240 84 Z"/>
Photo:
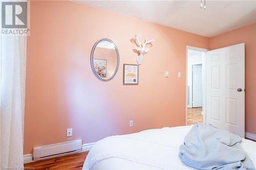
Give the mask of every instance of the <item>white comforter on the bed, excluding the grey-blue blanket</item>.
<path id="1" fill-rule="evenodd" d="M 191 126 L 141 131 L 98 141 L 84 162 L 84 170 L 97 169 L 192 169 L 179 159 L 179 146 Z M 241 146 L 256 166 L 256 142 Z"/>

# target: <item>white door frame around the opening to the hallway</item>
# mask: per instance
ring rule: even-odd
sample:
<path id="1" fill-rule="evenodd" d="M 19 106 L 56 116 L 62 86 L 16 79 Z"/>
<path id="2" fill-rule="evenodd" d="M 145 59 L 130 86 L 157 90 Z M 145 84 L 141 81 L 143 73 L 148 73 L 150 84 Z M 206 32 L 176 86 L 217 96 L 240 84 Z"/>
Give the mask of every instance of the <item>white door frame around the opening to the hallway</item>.
<path id="1" fill-rule="evenodd" d="M 185 85 L 185 111 L 186 111 L 186 125 L 187 125 L 187 59 L 188 59 L 188 50 L 194 50 L 194 51 L 200 51 L 203 52 L 203 59 L 202 59 L 202 74 L 203 74 L 203 110 L 202 110 L 202 115 L 203 115 L 203 123 L 206 123 L 206 114 L 205 114 L 205 107 L 206 107 L 206 52 L 209 51 L 208 49 L 205 48 L 200 48 L 196 46 L 190 46 L 186 45 L 186 85 Z"/>

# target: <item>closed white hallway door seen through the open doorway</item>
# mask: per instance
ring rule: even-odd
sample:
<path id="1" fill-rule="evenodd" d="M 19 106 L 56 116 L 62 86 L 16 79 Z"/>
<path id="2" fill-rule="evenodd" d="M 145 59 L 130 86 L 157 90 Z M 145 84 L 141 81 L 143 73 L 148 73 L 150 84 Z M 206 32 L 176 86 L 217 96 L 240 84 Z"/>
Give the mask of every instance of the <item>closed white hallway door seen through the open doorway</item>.
<path id="1" fill-rule="evenodd" d="M 203 106 L 202 64 L 192 66 L 192 107 Z"/>

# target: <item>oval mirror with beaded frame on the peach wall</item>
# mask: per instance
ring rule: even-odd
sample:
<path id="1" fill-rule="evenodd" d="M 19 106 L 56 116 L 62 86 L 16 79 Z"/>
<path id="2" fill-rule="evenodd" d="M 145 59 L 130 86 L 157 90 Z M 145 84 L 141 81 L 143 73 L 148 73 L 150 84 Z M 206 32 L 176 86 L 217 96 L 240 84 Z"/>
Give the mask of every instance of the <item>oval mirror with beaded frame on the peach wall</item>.
<path id="1" fill-rule="evenodd" d="M 91 64 L 95 75 L 102 81 L 110 81 L 119 67 L 119 52 L 116 44 L 109 38 L 95 43 L 91 54 Z"/>

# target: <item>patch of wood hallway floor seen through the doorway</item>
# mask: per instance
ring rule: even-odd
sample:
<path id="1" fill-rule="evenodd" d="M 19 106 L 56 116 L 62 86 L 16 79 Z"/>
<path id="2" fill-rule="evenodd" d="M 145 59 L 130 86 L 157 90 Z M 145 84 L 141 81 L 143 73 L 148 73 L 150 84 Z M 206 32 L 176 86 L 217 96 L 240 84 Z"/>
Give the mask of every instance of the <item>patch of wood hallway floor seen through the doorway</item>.
<path id="1" fill-rule="evenodd" d="M 187 108 L 187 125 L 203 123 L 202 107 Z"/>

